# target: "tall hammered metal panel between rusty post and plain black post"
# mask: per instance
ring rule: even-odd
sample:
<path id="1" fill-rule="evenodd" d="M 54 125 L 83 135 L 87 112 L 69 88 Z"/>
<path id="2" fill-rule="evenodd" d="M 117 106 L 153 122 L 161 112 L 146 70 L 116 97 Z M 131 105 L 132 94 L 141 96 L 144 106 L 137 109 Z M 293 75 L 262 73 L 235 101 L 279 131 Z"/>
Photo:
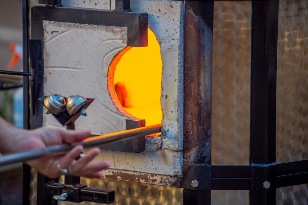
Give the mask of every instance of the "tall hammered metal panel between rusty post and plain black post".
<path id="1" fill-rule="evenodd" d="M 214 1 L 212 164 L 248 165 L 251 1 Z"/>

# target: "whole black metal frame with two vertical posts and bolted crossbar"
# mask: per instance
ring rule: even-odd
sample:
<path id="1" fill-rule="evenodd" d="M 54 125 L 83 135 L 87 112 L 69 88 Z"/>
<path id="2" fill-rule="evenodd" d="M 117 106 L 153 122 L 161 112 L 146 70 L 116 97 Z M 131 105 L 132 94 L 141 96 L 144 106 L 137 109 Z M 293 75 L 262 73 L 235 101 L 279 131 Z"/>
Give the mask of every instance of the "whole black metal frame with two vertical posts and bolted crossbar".
<path id="1" fill-rule="evenodd" d="M 206 96 L 189 95 L 191 87 L 201 87 L 203 76 L 192 76 L 205 70 L 211 75 L 212 61 L 200 61 L 206 49 L 200 19 L 213 35 L 213 1 L 186 1 L 185 12 L 185 72 L 184 72 L 184 164 L 183 164 L 183 202 L 184 204 L 210 204 L 210 190 L 249 190 L 250 204 L 275 204 L 276 188 L 308 183 L 308 160 L 291 161 L 276 164 L 276 71 L 277 71 L 277 35 L 278 0 L 252 1 L 252 44 L 251 44 L 251 111 L 250 111 L 250 165 L 220 166 L 211 165 L 207 158 L 207 170 L 201 171 L 199 161 L 206 152 L 204 142 L 211 141 L 207 135 L 210 128 L 205 119 L 211 120 L 211 107 L 205 102 Z M 202 10 L 203 12 L 201 12 Z M 193 25 L 193 26 L 192 26 Z M 204 26 L 204 25 L 203 25 Z M 194 32 L 192 32 L 194 31 Z M 207 44 L 213 46 L 213 44 Z M 194 48 L 194 49 L 193 49 Z M 212 49 L 213 47 L 211 47 Z M 194 53 L 194 51 L 197 51 Z M 197 56 L 197 57 L 195 57 Z M 210 69 L 209 69 L 210 67 Z M 199 81 L 199 83 L 198 83 Z M 204 86 L 204 85 L 203 85 Z M 194 87 L 196 88 L 196 87 Z M 207 89 L 209 86 L 206 87 Z M 187 93 L 186 93 L 186 92 Z M 209 92 L 203 90 L 203 92 Z M 196 100 L 198 99 L 198 100 Z M 192 103 L 193 102 L 193 103 Z M 197 108 L 198 115 L 192 115 Z M 207 115 L 203 115 L 206 112 Z M 195 121 L 203 120 L 198 129 L 190 135 Z M 193 138 L 193 139 L 192 139 Z M 196 142 L 197 140 L 197 142 Z M 196 149 L 196 144 L 200 144 Z M 196 159 L 189 158 L 189 151 L 195 149 Z M 186 157 L 185 157 L 186 156 Z M 190 169 L 187 169 L 189 164 Z M 189 176 L 192 169 L 196 174 Z M 193 188 L 191 181 L 197 180 L 199 186 Z M 207 180 L 206 184 L 204 179 Z M 263 187 L 269 182 L 270 187 Z"/>

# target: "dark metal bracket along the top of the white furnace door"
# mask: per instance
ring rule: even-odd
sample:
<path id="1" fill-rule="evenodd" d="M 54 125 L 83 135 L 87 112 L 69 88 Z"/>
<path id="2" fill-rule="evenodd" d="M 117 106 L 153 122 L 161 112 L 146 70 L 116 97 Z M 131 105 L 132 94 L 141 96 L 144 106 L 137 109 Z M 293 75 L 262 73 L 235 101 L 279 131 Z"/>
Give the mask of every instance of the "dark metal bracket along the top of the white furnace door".
<path id="1" fill-rule="evenodd" d="M 130 10 L 128 0 L 117 0 L 115 10 L 57 7 L 56 0 L 47 2 L 48 5 L 46 3 L 31 8 L 32 36 L 43 39 L 43 21 L 47 20 L 127 27 L 128 46 L 148 45 L 148 14 Z"/>

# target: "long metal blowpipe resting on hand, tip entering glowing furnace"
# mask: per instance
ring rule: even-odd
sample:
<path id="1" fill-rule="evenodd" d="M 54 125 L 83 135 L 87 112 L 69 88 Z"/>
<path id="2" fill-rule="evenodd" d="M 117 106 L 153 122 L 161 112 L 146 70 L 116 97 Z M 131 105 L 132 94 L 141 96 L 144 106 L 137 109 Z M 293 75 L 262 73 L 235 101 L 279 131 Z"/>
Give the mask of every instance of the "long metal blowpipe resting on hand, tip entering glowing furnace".
<path id="1" fill-rule="evenodd" d="M 151 125 L 142 128 L 135 128 L 121 132 L 114 132 L 106 135 L 89 137 L 81 142 L 74 144 L 59 144 L 42 149 L 30 150 L 26 152 L 18 152 L 0 157 L 0 166 L 13 164 L 17 162 L 25 162 L 45 156 L 57 156 L 74 148 L 77 145 L 82 145 L 84 148 L 95 147 L 103 144 L 120 142 L 136 137 L 155 134 L 161 132 L 161 124 Z"/>

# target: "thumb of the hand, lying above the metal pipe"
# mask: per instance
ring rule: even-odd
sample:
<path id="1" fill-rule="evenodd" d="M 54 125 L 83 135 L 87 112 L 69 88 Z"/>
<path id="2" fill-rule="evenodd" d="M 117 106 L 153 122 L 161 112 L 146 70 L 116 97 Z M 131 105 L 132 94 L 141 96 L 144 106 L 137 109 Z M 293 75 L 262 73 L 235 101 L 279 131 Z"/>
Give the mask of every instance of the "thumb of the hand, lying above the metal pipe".
<path id="1" fill-rule="evenodd" d="M 75 142 L 82 141 L 90 136 L 90 130 L 71 131 L 71 130 L 58 130 L 59 135 L 62 138 L 63 143 L 73 144 Z"/>

